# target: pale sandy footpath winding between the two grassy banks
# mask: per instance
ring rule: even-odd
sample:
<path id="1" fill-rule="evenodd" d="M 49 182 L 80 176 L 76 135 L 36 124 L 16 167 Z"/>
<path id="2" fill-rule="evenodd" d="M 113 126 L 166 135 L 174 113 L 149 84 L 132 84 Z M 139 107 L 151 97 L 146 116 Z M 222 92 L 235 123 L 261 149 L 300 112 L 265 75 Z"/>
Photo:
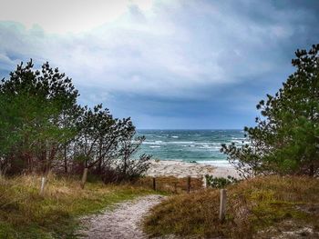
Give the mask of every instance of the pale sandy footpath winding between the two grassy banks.
<path id="1" fill-rule="evenodd" d="M 83 219 L 86 228 L 78 232 L 79 238 L 137 239 L 148 238 L 139 223 L 149 209 L 164 199 L 161 195 L 147 195 L 118 204 L 112 211 L 87 216 Z"/>

